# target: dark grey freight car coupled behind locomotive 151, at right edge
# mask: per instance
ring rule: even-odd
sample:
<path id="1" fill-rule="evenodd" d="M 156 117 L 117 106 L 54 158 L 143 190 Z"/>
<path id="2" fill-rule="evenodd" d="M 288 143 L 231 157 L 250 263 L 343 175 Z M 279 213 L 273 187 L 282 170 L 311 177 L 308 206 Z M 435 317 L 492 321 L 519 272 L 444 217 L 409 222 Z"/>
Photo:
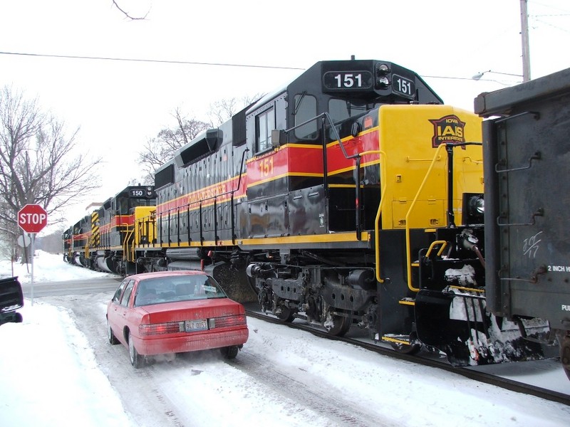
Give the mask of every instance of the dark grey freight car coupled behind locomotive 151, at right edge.
<path id="1" fill-rule="evenodd" d="M 548 320 L 570 378 L 570 68 L 484 93 L 487 310 Z"/>

